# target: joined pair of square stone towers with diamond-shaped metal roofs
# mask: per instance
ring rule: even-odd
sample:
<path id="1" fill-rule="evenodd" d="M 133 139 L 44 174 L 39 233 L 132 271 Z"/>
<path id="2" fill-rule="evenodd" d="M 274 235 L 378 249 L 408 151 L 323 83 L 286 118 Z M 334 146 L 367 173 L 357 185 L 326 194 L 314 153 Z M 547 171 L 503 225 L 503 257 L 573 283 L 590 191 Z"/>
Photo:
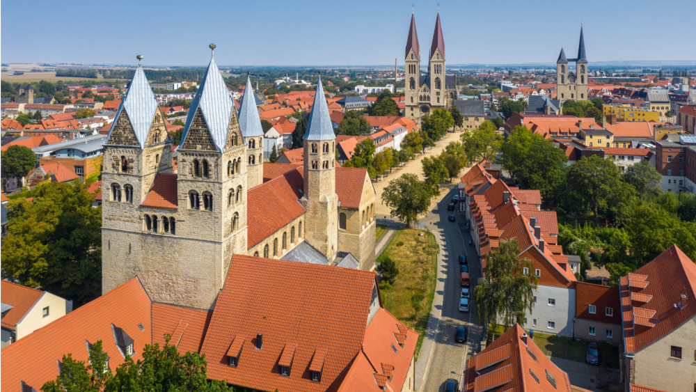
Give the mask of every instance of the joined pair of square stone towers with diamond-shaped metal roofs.
<path id="1" fill-rule="evenodd" d="M 214 49 L 214 45 L 211 45 Z M 139 66 L 104 143 L 102 292 L 138 276 L 154 301 L 211 308 L 246 254 L 246 148 L 211 57 L 172 173 L 172 141 Z"/>

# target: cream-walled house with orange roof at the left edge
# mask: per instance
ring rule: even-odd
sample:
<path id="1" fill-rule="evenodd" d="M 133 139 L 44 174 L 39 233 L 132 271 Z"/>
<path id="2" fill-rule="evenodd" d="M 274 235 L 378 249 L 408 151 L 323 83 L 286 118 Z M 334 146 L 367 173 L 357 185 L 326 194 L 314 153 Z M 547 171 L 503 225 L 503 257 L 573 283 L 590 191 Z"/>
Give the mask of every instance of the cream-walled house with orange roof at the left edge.
<path id="1" fill-rule="evenodd" d="M 0 281 L 0 285 L 2 290 L 2 348 L 72 311 L 72 301 L 50 292 L 5 280 Z"/>

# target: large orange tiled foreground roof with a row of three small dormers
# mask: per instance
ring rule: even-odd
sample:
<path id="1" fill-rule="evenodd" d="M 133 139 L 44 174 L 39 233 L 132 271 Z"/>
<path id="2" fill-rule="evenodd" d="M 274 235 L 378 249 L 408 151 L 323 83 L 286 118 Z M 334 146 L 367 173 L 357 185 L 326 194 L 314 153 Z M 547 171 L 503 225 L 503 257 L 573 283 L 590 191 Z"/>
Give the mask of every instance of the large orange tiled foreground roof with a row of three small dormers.
<path id="1" fill-rule="evenodd" d="M 326 391 L 361 350 L 375 278 L 356 269 L 232 256 L 203 343 L 208 377 L 264 391 Z M 244 343 L 233 368 L 226 354 L 239 336 Z M 296 348 L 283 377 L 277 363 L 286 345 Z M 324 351 L 321 382 L 312 382 L 306 374 Z"/>

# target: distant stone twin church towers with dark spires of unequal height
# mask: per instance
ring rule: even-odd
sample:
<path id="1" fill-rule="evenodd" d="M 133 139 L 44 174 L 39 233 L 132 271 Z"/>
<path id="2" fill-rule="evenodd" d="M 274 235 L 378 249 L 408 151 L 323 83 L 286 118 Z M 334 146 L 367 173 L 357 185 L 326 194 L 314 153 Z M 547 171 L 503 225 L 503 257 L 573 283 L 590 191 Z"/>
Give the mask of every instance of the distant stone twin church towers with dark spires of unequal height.
<path id="1" fill-rule="evenodd" d="M 568 63 L 576 64 L 576 72 L 568 70 Z M 557 99 L 561 104 L 565 101 L 587 100 L 587 55 L 585 54 L 585 38 L 583 28 L 580 27 L 580 45 L 578 46 L 578 58 L 566 58 L 561 47 L 561 52 L 556 60 L 556 84 Z"/>

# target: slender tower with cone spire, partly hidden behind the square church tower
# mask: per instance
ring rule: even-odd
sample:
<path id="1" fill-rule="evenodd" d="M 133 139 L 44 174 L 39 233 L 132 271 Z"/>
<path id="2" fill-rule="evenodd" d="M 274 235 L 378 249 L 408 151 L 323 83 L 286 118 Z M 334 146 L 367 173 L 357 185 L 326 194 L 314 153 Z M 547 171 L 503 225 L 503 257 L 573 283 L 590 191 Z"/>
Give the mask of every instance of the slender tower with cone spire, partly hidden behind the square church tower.
<path id="1" fill-rule="evenodd" d="M 258 90 L 258 81 L 257 81 Z M 246 189 L 263 183 L 263 128 L 256 107 L 251 77 L 246 77 L 246 89 L 239 105 L 239 127 L 246 144 Z"/>

